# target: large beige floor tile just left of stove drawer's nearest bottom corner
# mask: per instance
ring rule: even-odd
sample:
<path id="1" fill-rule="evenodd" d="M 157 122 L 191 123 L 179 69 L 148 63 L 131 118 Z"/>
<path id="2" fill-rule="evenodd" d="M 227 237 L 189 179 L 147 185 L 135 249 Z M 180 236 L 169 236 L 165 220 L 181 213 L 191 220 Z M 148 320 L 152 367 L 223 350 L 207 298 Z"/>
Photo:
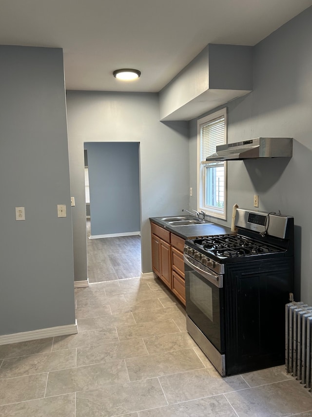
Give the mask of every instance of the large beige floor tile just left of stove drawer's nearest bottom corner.
<path id="1" fill-rule="evenodd" d="M 193 349 L 126 359 L 130 381 L 203 368 Z"/>

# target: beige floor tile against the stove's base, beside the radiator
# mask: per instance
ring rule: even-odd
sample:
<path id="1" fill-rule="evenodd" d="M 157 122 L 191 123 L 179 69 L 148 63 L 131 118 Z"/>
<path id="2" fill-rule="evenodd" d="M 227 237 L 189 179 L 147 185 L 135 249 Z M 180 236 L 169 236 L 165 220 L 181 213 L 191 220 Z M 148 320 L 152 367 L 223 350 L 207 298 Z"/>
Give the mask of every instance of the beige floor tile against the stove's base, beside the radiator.
<path id="1" fill-rule="evenodd" d="M 292 379 L 292 375 L 286 373 L 285 365 L 274 366 L 272 368 L 260 369 L 259 371 L 243 373 L 242 377 L 251 387 L 258 385 L 271 384 L 272 382 L 284 381 Z"/>

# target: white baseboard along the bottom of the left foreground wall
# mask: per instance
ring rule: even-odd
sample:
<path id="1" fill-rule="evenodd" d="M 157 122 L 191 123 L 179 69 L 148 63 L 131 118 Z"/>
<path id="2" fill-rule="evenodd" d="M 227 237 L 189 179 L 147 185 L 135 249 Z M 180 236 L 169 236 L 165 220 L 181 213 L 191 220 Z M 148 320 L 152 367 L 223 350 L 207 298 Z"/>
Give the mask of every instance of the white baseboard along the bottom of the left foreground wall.
<path id="1" fill-rule="evenodd" d="M 0 345 L 28 342 L 29 340 L 45 339 L 47 337 L 65 336 L 78 333 L 77 321 L 66 326 L 49 327 L 46 329 L 23 331 L 21 333 L 4 334 L 0 336 Z"/>

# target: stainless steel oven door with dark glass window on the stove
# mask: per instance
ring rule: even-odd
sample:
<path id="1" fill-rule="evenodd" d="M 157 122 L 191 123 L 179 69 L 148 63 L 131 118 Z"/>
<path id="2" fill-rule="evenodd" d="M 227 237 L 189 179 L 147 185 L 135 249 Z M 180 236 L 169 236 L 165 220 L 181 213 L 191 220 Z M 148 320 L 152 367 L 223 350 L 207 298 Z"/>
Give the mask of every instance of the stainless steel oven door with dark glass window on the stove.
<path id="1" fill-rule="evenodd" d="M 184 254 L 186 313 L 221 354 L 225 351 L 223 276 Z"/>

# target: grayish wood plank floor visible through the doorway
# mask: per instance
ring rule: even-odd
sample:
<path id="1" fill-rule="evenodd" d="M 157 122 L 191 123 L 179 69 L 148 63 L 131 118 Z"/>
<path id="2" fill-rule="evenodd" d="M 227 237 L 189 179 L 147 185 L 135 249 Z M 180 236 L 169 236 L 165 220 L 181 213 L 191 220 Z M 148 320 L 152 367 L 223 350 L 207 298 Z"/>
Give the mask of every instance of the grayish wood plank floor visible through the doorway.
<path id="1" fill-rule="evenodd" d="M 141 237 L 89 239 L 87 219 L 87 254 L 89 283 L 135 278 L 141 275 Z"/>

